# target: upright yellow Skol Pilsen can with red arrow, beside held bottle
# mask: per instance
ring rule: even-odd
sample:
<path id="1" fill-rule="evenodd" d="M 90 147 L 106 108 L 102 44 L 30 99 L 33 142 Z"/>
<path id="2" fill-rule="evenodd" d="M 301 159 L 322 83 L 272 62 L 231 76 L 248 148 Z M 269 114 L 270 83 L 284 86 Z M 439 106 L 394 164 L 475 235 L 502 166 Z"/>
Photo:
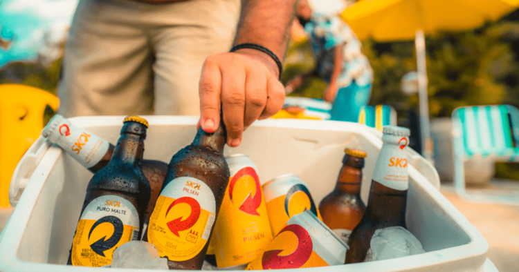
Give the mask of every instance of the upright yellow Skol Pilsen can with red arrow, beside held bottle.
<path id="1" fill-rule="evenodd" d="M 230 180 L 211 238 L 219 269 L 248 264 L 272 240 L 257 167 L 244 154 L 226 161 Z"/>

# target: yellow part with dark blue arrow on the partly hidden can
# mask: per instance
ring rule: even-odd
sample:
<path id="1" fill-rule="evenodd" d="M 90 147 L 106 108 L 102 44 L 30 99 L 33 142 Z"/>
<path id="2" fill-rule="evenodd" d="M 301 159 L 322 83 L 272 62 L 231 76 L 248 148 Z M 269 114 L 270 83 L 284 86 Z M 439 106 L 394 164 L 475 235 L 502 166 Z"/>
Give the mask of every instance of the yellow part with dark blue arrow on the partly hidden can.
<path id="1" fill-rule="evenodd" d="M 286 226 L 286 222 L 289 221 L 291 216 L 302 213 L 305 208 L 307 210 L 315 208 L 317 217 L 322 220 L 319 209 L 312 205 L 313 200 L 311 200 L 311 196 L 304 191 L 293 193 L 289 200 L 286 200 L 286 197 L 286 195 L 281 195 L 266 203 L 268 218 L 271 222 L 274 235 L 279 233 L 281 229 Z M 288 213 L 286 211 L 288 211 Z"/>

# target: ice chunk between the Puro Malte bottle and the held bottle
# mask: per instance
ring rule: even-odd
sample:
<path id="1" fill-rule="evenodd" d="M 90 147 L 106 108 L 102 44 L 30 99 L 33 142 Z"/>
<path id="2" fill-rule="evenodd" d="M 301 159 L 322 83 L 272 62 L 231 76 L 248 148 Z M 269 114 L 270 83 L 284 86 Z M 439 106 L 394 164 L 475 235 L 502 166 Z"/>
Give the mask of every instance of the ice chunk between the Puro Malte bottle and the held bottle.
<path id="1" fill-rule="evenodd" d="M 113 251 L 112 268 L 167 270 L 167 258 L 160 258 L 153 244 L 131 241 Z"/>

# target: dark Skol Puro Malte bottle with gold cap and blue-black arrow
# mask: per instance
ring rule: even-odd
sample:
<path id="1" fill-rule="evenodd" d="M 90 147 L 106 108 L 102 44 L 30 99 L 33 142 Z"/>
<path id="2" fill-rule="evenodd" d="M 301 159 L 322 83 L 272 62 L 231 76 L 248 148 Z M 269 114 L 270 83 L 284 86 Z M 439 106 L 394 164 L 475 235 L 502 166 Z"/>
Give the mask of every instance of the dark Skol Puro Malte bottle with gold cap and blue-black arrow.
<path id="1" fill-rule="evenodd" d="M 140 165 L 147 125 L 143 118 L 126 117 L 109 164 L 90 180 L 69 264 L 111 264 L 118 246 L 140 237 L 151 194 Z"/>

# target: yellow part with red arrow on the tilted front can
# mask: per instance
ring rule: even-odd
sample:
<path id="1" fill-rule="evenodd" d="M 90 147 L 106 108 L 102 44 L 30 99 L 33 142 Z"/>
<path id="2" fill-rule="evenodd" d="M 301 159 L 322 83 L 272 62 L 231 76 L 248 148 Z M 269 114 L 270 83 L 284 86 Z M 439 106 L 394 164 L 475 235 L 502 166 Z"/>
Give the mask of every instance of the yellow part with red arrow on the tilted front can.
<path id="1" fill-rule="evenodd" d="M 303 226 L 286 226 L 246 270 L 296 269 L 329 266 L 313 250 L 312 237 Z"/>

